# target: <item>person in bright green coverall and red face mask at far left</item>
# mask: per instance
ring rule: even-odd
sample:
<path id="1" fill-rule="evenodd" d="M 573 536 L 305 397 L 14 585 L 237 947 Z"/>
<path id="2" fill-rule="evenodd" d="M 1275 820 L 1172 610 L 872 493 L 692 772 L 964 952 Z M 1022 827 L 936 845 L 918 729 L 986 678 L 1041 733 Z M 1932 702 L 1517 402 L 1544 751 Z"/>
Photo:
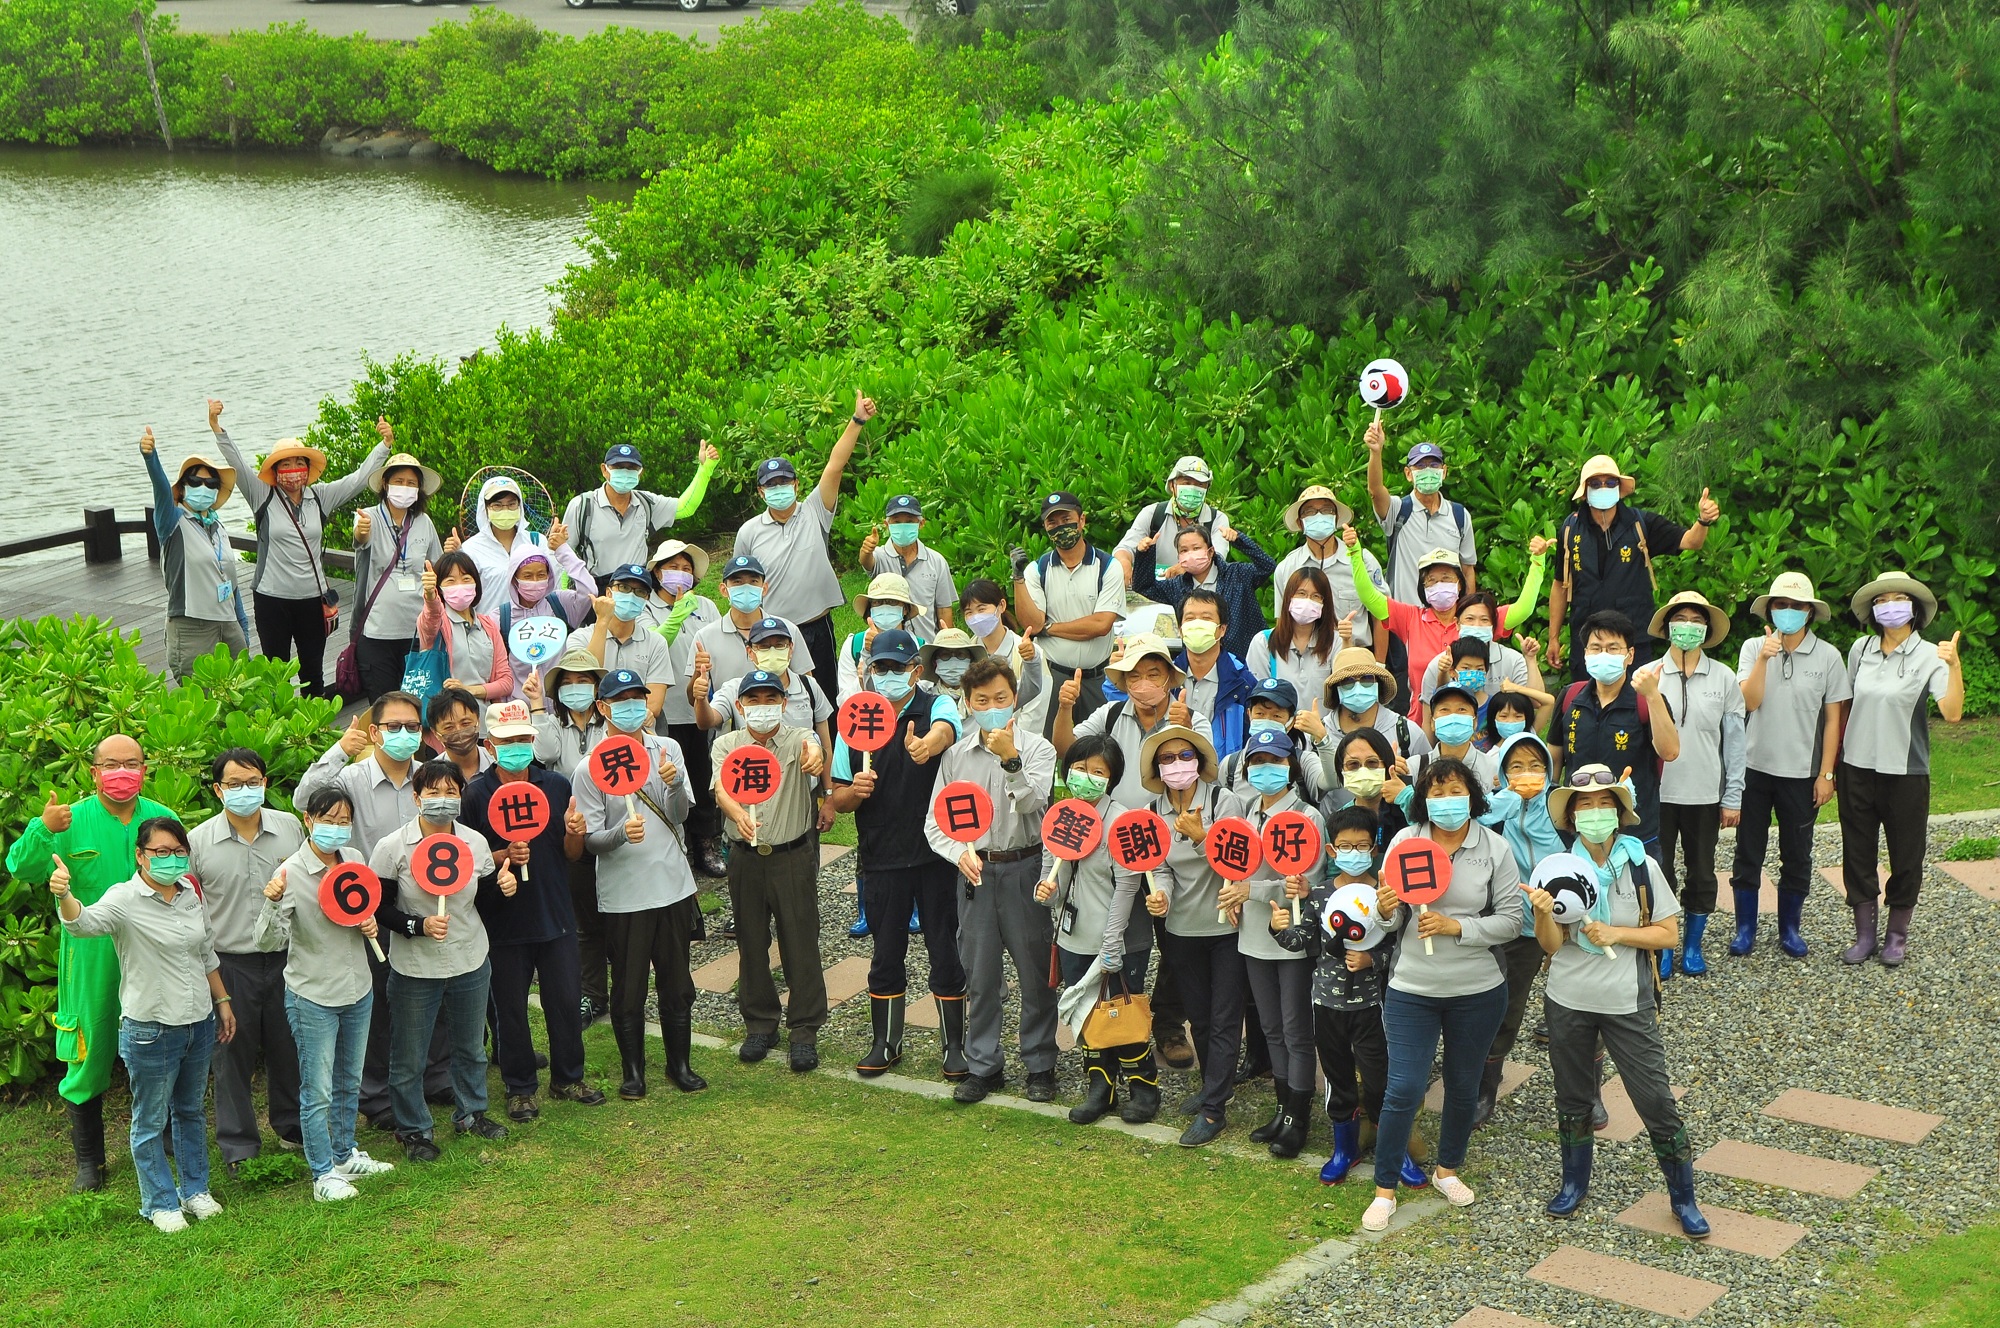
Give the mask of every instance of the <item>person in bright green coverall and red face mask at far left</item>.
<path id="1" fill-rule="evenodd" d="M 146 782 L 146 754 L 138 740 L 112 734 L 90 758 L 98 792 L 64 806 L 50 792 L 48 806 L 8 848 L 6 870 L 16 880 L 46 886 L 60 854 L 70 868 L 70 892 L 96 904 L 106 890 L 132 878 L 138 826 L 172 808 L 138 794 Z M 104 1090 L 118 1060 L 118 950 L 110 936 L 76 938 L 64 932 L 56 950 L 56 1058 L 64 1106 L 70 1110 L 70 1144 L 76 1148 L 74 1190 L 104 1188 Z"/>

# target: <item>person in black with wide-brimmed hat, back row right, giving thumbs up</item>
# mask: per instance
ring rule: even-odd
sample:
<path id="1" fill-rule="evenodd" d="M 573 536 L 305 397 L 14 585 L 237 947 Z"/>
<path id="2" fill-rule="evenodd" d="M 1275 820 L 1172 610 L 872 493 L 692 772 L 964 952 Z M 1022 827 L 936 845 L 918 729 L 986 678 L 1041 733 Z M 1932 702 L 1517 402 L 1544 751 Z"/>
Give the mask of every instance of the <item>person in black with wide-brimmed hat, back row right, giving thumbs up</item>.
<path id="1" fill-rule="evenodd" d="M 1562 668 L 1562 624 L 1578 624 L 1568 640 L 1574 682 L 1590 676 L 1584 672 L 1588 638 L 1580 624 L 1602 610 L 1618 610 L 1630 622 L 1652 622 L 1652 560 L 1700 548 L 1708 542 L 1708 528 L 1722 518 L 1706 488 L 1692 526 L 1626 506 L 1636 484 L 1610 456 L 1592 456 L 1570 494 L 1576 510 L 1562 522 L 1562 558 L 1548 592 L 1548 668 Z M 1650 662 L 1652 642 L 1634 640 L 1632 660 Z"/>

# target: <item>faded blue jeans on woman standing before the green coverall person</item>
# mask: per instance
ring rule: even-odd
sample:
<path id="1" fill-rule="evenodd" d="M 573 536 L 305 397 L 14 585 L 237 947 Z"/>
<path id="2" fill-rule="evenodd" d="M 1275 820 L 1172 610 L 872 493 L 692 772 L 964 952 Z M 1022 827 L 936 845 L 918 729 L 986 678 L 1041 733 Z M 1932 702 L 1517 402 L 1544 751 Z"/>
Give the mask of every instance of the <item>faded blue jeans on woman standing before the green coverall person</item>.
<path id="1" fill-rule="evenodd" d="M 138 1172 L 138 1216 L 176 1212 L 208 1194 L 208 1058 L 216 1050 L 216 1016 L 198 1024 L 118 1020 L 118 1058 L 132 1078 L 132 1170 Z M 174 1126 L 174 1162 L 160 1136 Z M 174 1184 L 174 1166 L 180 1184 Z"/>

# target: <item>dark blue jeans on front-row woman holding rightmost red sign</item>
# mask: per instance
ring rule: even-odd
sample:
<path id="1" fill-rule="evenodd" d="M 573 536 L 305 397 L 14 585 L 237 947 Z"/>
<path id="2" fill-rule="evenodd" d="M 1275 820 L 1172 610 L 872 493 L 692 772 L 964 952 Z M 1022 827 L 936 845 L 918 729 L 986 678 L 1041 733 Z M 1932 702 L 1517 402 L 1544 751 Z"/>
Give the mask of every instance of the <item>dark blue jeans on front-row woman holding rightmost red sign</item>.
<path id="1" fill-rule="evenodd" d="M 1430 1088 L 1430 1062 L 1444 1038 L 1444 1122 L 1438 1128 L 1438 1166 L 1456 1172 L 1472 1138 L 1472 1110 L 1480 1096 L 1486 1052 L 1506 1016 L 1506 982 L 1472 996 L 1412 996 L 1394 986 L 1382 1000 L 1382 1034 L 1388 1038 L 1388 1090 L 1376 1134 L 1376 1188 L 1394 1190 L 1402 1156 L 1410 1148 L 1416 1108 Z"/>

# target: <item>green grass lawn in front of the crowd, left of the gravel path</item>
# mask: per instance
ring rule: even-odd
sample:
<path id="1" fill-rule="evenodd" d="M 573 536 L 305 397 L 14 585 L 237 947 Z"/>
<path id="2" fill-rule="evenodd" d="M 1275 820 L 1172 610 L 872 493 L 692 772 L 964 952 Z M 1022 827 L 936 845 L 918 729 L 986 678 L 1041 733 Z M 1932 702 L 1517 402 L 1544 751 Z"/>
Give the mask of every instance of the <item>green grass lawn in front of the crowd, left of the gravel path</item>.
<path id="1" fill-rule="evenodd" d="M 694 1058 L 708 1092 L 544 1104 L 488 1146 L 444 1124 L 430 1166 L 364 1132 L 398 1170 L 344 1204 L 218 1168 L 228 1212 L 180 1236 L 136 1216 L 122 1102 L 106 1200 L 66 1194 L 50 1096 L 0 1110 L 0 1324 L 1158 1324 L 1350 1232 L 1368 1198 L 1302 1166 Z M 594 1028 L 592 1078 L 614 1068 Z"/>

